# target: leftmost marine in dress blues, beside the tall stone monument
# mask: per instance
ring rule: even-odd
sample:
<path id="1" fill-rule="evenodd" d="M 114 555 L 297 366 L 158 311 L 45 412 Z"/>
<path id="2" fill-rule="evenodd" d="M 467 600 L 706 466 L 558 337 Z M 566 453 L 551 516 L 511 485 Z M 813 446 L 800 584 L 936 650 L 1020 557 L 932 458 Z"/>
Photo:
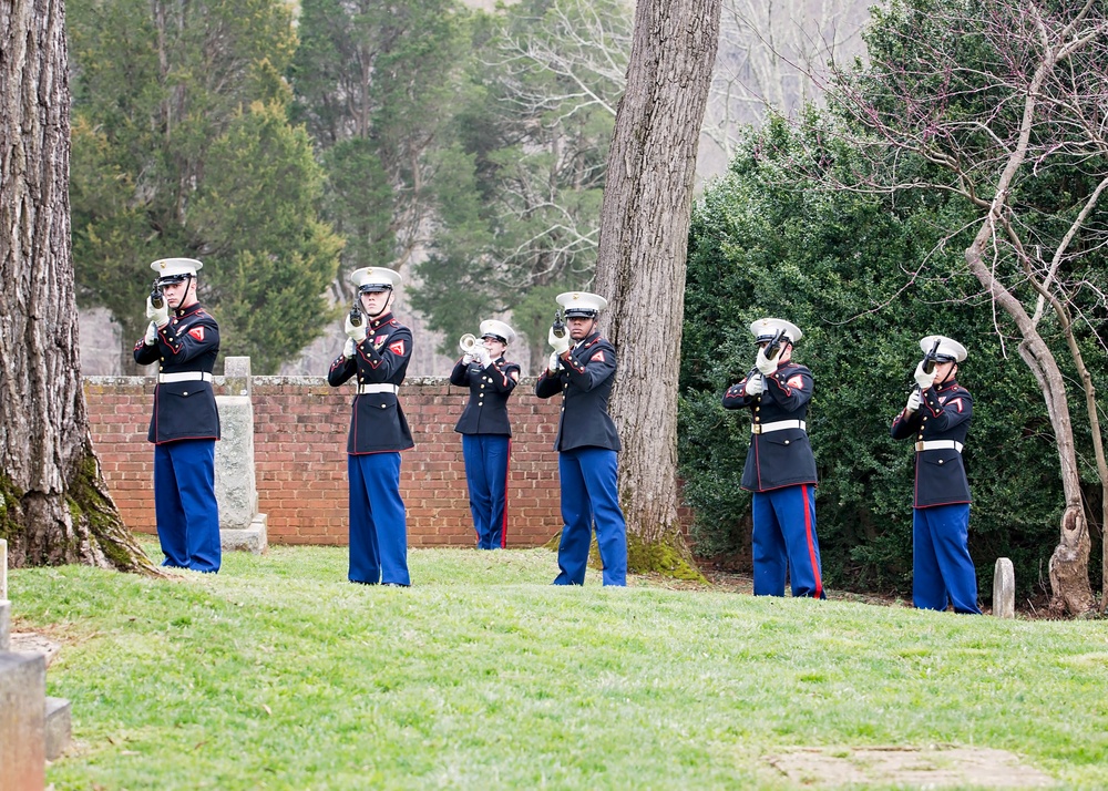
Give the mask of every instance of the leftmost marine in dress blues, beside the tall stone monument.
<path id="1" fill-rule="evenodd" d="M 215 442 L 219 412 L 212 369 L 219 353 L 219 326 L 196 301 L 193 258 L 162 258 L 157 273 L 163 304 L 146 298 L 146 335 L 135 343 L 135 362 L 157 366 L 154 413 L 146 439 L 154 443 L 154 514 L 163 566 L 218 572 L 219 506 L 215 499 Z"/>

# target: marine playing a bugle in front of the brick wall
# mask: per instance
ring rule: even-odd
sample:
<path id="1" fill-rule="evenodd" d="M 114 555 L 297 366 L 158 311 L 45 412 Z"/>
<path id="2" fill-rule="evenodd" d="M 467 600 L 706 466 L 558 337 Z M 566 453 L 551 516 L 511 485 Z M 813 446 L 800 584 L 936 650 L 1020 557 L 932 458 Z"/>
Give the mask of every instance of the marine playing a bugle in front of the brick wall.
<path id="1" fill-rule="evenodd" d="M 454 363 L 450 383 L 470 389 L 454 431 L 462 435 L 465 483 L 479 549 L 500 549 L 507 542 L 507 466 L 512 424 L 507 399 L 520 382 L 520 364 L 504 359 L 515 331 L 503 321 L 481 322 L 481 341 Z M 466 338 L 472 338 L 468 336 Z"/>

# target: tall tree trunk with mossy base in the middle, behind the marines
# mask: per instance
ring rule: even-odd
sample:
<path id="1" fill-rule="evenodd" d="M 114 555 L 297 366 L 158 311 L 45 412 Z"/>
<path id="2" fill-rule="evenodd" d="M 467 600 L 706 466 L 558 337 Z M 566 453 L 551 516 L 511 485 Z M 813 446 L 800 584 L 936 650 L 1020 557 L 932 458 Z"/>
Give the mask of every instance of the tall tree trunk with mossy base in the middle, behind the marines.
<path id="1" fill-rule="evenodd" d="M 629 567 L 698 575 L 677 507 L 677 376 L 696 154 L 720 0 L 639 0 L 608 154 L 596 290 L 619 352 L 619 501 Z"/>

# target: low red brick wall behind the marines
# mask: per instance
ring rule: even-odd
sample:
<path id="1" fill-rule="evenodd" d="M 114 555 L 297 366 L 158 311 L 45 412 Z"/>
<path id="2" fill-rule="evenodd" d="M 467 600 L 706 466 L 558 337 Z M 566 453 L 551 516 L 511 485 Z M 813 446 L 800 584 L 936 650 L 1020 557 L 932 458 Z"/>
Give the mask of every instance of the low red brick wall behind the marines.
<path id="1" fill-rule="evenodd" d="M 222 394 L 222 378 L 216 393 Z M 346 544 L 347 429 L 351 386 L 320 377 L 255 377 L 254 454 L 258 511 L 269 541 Z M 154 532 L 154 458 L 146 442 L 153 380 L 89 377 L 84 381 L 93 442 L 115 504 L 134 531 Z M 512 455 L 507 486 L 507 545 L 542 544 L 562 528 L 557 453 L 561 399 L 535 398 L 534 380 L 509 403 Z M 400 489 L 408 507 L 410 546 L 472 546 L 461 435 L 454 422 L 469 394 L 445 379 L 409 379 L 400 400 L 416 439 L 402 454 Z"/>

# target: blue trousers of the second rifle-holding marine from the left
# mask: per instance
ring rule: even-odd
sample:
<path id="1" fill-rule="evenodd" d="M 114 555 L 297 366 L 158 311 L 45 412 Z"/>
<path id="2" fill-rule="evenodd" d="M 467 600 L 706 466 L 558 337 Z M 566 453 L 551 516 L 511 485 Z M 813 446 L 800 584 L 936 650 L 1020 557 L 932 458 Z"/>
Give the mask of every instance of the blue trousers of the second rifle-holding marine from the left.
<path id="1" fill-rule="evenodd" d="M 411 585 L 408 516 L 400 499 L 400 453 L 347 455 L 352 583 Z"/>

